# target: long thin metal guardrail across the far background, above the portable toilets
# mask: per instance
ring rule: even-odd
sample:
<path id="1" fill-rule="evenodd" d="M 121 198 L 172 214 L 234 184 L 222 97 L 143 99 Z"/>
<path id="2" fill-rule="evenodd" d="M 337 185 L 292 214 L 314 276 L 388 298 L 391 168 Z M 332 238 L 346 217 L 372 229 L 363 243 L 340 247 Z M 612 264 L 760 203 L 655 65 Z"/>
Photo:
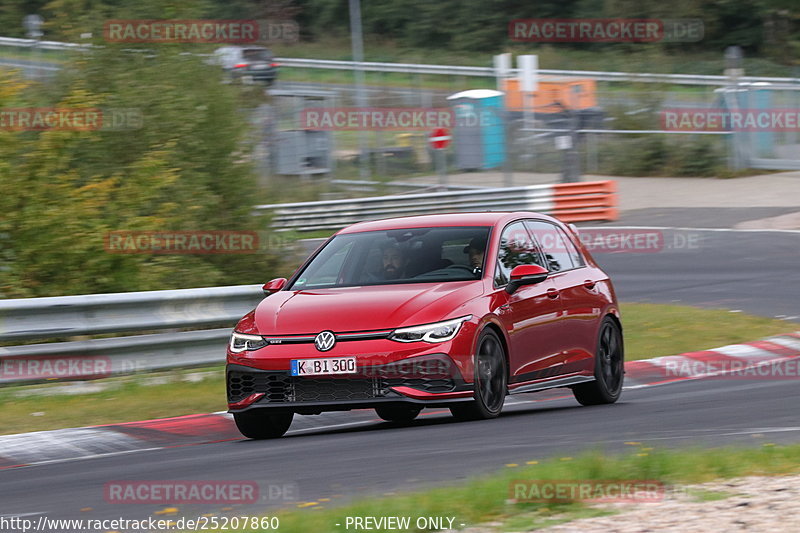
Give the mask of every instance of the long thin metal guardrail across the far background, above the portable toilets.
<path id="1" fill-rule="evenodd" d="M 58 41 L 36 41 L 35 39 L 17 39 L 13 37 L 0 37 L 0 46 L 13 46 L 20 48 L 37 48 L 42 50 L 88 50 L 89 44 L 63 43 Z M 208 56 L 209 54 L 191 54 Z M 278 57 L 275 60 L 282 67 L 294 68 L 319 68 L 329 70 L 363 70 L 366 72 L 394 72 L 404 74 L 441 74 L 451 76 L 474 76 L 493 78 L 496 75 L 492 67 L 467 67 L 460 65 L 426 65 L 419 63 L 381 63 L 365 61 L 336 61 L 328 59 L 300 59 L 292 57 Z M 519 69 L 510 69 L 512 75 L 518 75 Z M 731 84 L 727 76 L 701 75 L 701 74 L 657 74 L 639 72 L 604 72 L 599 70 L 556 70 L 539 69 L 543 76 L 560 76 L 572 78 L 591 78 L 597 81 L 625 81 L 640 83 L 671 83 L 677 85 L 711 85 L 726 86 Z M 739 84 L 744 83 L 779 83 L 786 85 L 800 84 L 800 78 L 781 77 L 754 77 L 742 76 L 738 78 Z"/>

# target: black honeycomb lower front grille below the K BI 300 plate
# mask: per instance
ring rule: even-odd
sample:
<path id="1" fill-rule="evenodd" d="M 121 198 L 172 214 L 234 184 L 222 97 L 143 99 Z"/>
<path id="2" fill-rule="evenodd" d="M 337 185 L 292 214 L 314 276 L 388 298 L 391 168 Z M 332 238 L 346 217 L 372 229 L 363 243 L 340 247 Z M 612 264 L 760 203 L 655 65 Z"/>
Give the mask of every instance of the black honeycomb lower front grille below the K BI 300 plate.
<path id="1" fill-rule="evenodd" d="M 243 372 L 229 370 L 228 402 L 244 400 L 263 392 L 262 403 L 336 402 L 369 400 L 386 396 L 390 387 L 411 387 L 425 392 L 449 392 L 455 389 L 452 378 L 382 378 L 382 377 L 296 377 L 283 372 Z"/>

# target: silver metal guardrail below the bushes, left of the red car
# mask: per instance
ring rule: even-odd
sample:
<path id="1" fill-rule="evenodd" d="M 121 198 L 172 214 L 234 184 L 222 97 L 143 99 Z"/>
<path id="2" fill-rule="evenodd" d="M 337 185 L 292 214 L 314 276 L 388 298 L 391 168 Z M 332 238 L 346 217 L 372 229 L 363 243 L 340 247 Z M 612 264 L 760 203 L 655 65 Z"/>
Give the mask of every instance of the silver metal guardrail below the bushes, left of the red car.
<path id="1" fill-rule="evenodd" d="M 0 342 L 4 343 L 228 326 L 0 347 L 0 383 L 90 377 L 73 375 L 70 360 L 100 360 L 104 376 L 220 363 L 231 327 L 263 297 L 260 285 L 242 285 L 0 300 Z M 56 362 L 65 366 L 66 375 L 44 372 Z M 38 371 L 31 372 L 32 368 Z"/>

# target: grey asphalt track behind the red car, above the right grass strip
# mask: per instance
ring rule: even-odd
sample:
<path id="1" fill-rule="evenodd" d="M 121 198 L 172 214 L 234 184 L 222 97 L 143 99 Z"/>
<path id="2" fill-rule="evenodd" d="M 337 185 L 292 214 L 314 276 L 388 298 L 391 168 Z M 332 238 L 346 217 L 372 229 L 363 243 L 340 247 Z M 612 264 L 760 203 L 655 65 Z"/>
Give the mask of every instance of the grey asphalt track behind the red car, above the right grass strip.
<path id="1" fill-rule="evenodd" d="M 663 234 L 661 249 L 593 252 L 621 301 L 741 310 L 800 322 L 800 231 L 657 231 Z"/>

